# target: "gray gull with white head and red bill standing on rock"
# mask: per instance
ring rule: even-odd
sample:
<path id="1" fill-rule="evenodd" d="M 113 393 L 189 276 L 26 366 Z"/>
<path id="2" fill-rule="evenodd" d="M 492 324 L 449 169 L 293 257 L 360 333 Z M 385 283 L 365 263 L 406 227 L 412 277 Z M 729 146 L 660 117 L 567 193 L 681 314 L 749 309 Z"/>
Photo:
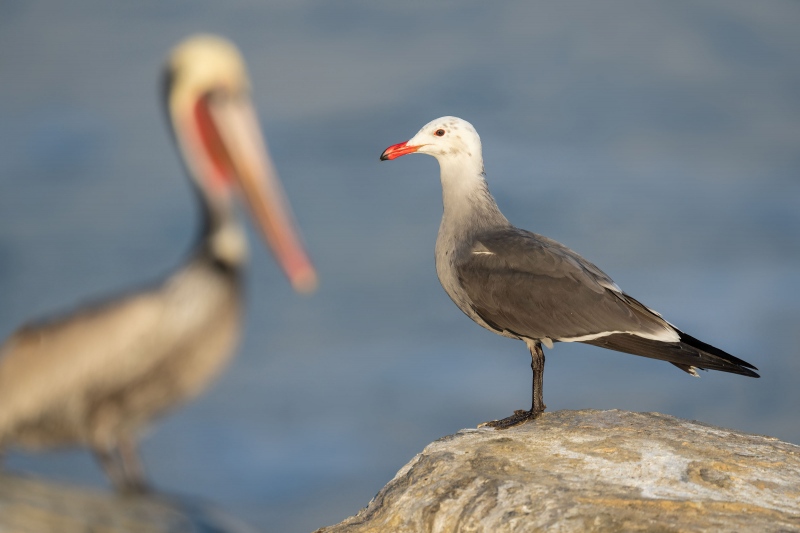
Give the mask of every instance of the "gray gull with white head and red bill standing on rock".
<path id="1" fill-rule="evenodd" d="M 489 194 L 481 140 L 472 124 L 442 117 L 381 160 L 421 153 L 439 161 L 444 214 L 436 239 L 436 272 L 444 290 L 472 320 L 531 353 L 533 405 L 503 420 L 508 428 L 545 409 L 544 352 L 554 342 L 584 342 L 697 369 L 758 377 L 753 365 L 687 335 L 628 296 L 595 265 L 566 246 L 512 226 Z"/>

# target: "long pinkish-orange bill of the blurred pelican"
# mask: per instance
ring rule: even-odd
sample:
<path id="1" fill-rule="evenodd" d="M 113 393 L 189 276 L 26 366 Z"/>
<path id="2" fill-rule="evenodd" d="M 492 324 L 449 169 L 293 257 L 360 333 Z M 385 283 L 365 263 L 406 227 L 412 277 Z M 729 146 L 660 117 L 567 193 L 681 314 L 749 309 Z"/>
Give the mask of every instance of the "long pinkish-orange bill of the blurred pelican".
<path id="1" fill-rule="evenodd" d="M 245 96 L 209 98 L 209 118 L 250 213 L 295 290 L 313 292 L 317 274 L 296 230 L 291 208 Z"/>

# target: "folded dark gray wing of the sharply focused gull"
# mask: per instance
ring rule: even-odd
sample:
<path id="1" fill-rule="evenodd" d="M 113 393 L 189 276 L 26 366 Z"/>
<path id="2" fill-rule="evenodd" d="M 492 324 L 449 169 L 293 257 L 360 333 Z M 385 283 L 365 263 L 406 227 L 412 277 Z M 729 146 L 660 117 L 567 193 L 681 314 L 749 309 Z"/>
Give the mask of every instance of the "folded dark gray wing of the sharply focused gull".
<path id="1" fill-rule="evenodd" d="M 545 340 L 612 332 L 678 340 L 599 268 L 541 235 L 517 228 L 479 235 L 455 266 L 473 310 L 499 331 Z"/>

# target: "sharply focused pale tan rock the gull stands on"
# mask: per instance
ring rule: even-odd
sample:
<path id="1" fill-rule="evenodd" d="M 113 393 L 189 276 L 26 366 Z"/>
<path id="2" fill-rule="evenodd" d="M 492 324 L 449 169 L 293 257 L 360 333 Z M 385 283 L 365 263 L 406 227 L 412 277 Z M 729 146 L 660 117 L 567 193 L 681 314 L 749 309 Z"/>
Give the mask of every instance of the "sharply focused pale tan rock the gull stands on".
<path id="1" fill-rule="evenodd" d="M 800 531 L 800 446 L 658 413 L 558 411 L 427 446 L 325 533 Z"/>

